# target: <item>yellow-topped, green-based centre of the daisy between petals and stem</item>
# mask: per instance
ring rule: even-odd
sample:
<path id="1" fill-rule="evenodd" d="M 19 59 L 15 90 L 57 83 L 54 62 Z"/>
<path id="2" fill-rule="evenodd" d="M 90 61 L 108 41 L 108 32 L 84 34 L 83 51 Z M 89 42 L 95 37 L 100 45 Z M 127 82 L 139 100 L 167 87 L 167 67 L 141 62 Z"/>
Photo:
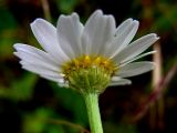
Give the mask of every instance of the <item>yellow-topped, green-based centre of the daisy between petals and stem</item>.
<path id="1" fill-rule="evenodd" d="M 81 93 L 101 93 L 108 85 L 117 68 L 104 57 L 82 55 L 65 62 L 62 70 L 72 89 Z"/>

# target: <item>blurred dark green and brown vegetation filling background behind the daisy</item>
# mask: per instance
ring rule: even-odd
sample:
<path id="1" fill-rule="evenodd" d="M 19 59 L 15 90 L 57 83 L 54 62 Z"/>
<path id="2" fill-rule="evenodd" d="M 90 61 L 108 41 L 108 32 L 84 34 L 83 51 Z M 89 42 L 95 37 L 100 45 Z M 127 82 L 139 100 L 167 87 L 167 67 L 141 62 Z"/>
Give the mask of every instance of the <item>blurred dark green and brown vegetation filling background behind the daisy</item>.
<path id="1" fill-rule="evenodd" d="M 42 1 L 0 0 L 0 133 L 88 132 L 82 96 L 23 71 L 13 55 L 13 44 L 23 42 L 39 47 L 30 30 L 30 22 L 35 18 L 51 14 L 55 24 L 61 13 L 75 11 L 85 22 L 95 9 L 113 14 L 117 25 L 126 18 L 139 20 L 136 38 L 150 32 L 160 37 L 158 47 L 154 47 L 162 53 L 154 59 L 158 69 L 162 68 L 160 74 L 149 72 L 131 78 L 133 85 L 108 88 L 101 95 L 105 133 L 177 132 L 177 75 L 169 80 L 162 98 L 135 119 L 136 111 L 154 91 L 153 79 L 158 75 L 157 80 L 164 79 L 169 71 L 175 73 L 171 68 L 177 63 L 176 0 L 48 0 L 48 16 Z M 153 60 L 152 57 L 146 59 Z"/>

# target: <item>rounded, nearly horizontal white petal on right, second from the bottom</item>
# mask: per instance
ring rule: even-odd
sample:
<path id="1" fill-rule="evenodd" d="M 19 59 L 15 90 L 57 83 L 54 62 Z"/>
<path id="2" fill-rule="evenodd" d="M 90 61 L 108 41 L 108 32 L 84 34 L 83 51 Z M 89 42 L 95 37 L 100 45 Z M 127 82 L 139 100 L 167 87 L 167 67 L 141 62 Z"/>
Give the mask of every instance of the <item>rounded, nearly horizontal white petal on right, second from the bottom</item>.
<path id="1" fill-rule="evenodd" d="M 153 70 L 154 66 L 155 63 L 148 61 L 134 62 L 119 68 L 115 74 L 121 78 L 128 78 L 148 72 Z"/>

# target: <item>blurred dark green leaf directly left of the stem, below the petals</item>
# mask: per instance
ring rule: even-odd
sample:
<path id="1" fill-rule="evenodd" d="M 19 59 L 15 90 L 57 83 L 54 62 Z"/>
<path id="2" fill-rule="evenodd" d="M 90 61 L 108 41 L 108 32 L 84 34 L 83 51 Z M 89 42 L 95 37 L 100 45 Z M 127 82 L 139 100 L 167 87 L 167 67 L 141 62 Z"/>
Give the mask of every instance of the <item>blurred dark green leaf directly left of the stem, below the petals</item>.
<path id="1" fill-rule="evenodd" d="M 83 126 L 87 125 L 86 108 L 81 94 L 71 89 L 60 88 L 55 84 L 51 85 L 55 96 L 60 101 L 60 104 L 73 113 L 73 121 L 82 124 Z"/>

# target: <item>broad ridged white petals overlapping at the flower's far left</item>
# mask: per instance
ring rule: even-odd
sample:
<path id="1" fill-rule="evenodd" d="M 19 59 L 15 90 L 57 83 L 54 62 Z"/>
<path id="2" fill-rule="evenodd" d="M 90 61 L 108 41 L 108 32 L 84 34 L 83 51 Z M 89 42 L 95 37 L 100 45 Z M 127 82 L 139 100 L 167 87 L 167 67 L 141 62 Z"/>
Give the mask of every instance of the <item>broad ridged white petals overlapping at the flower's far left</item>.
<path id="1" fill-rule="evenodd" d="M 60 73 L 59 62 L 42 50 L 27 44 L 14 44 L 14 54 L 21 59 L 20 63 L 24 70 L 40 74 L 48 80 L 60 82 L 63 74 Z"/>

